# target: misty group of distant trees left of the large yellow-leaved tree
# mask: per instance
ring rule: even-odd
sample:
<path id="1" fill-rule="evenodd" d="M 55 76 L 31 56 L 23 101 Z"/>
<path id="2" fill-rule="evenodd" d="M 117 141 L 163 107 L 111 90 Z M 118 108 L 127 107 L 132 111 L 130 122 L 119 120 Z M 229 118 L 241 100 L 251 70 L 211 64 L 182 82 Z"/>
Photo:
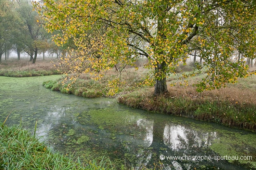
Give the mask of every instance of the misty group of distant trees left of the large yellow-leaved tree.
<path id="1" fill-rule="evenodd" d="M 46 52 L 58 56 L 59 47 L 50 37 L 30 0 L 0 1 L 0 62 L 2 56 L 8 59 L 10 51 L 17 53 L 18 60 L 20 54 L 25 52 L 33 63 L 40 53 L 43 57 Z"/>

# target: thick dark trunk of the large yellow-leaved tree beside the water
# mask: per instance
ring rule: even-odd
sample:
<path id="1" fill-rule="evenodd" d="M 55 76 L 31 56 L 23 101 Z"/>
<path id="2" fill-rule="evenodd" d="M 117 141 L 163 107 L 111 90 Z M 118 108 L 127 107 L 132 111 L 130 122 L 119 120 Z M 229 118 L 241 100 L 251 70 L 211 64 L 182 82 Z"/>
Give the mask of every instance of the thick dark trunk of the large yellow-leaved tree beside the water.
<path id="1" fill-rule="evenodd" d="M 166 85 L 166 63 L 157 64 L 155 68 L 155 76 L 159 76 L 156 78 L 154 96 L 161 95 L 167 93 L 167 85 Z"/>

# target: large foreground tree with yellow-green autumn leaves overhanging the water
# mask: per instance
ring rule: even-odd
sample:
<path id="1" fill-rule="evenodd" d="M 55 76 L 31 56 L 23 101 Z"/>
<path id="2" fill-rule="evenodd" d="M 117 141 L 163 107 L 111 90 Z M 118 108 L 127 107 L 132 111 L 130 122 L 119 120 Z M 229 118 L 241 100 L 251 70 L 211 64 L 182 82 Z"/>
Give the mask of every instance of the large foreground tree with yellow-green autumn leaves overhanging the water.
<path id="1" fill-rule="evenodd" d="M 254 0 L 43 0 L 37 5 L 47 30 L 61 31 L 55 42 L 76 45 L 69 53 L 76 72 L 132 64 L 136 56 L 146 56 L 154 95 L 167 92 L 166 77 L 194 50 L 204 61 L 198 69 L 207 73 L 199 90 L 247 77 L 246 63 L 232 56 L 237 51 L 255 56 Z"/>

